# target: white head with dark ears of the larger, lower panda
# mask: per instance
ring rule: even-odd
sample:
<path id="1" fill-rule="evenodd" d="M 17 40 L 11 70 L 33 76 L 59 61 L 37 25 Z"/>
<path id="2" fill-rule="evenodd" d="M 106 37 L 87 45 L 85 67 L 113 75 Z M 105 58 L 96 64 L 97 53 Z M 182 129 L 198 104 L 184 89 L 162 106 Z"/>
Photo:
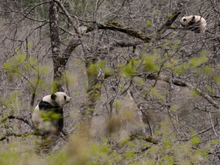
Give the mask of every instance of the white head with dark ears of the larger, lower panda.
<path id="1" fill-rule="evenodd" d="M 64 92 L 56 92 L 52 95 L 44 96 L 42 100 L 50 103 L 53 106 L 63 107 L 65 104 L 70 102 L 71 97 Z"/>

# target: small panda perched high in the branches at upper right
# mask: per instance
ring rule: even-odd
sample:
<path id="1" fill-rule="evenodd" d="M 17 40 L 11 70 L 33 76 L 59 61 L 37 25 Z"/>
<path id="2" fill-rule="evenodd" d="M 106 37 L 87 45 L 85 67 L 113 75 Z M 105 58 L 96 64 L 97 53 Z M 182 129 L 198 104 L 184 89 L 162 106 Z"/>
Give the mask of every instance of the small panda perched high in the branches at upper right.
<path id="1" fill-rule="evenodd" d="M 198 15 L 185 16 L 181 18 L 180 23 L 185 29 L 195 33 L 204 33 L 207 25 L 206 20 Z"/>

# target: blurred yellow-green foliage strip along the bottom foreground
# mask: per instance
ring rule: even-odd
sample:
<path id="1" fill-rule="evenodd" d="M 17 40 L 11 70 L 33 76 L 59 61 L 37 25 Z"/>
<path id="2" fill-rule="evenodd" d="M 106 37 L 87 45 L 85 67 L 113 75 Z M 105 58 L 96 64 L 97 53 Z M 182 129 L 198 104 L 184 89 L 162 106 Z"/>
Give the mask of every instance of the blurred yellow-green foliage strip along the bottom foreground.
<path id="1" fill-rule="evenodd" d="M 139 139 L 125 138 L 116 143 L 116 150 L 106 139 L 94 141 L 92 138 L 73 135 L 69 142 L 60 150 L 52 152 L 46 157 L 39 157 L 34 153 L 33 144 L 11 143 L 1 147 L 1 165 L 111 165 L 111 164 L 199 164 L 207 161 L 209 147 L 197 149 L 201 143 L 199 137 L 192 131 L 192 138 L 182 142 L 172 130 L 172 123 L 166 117 L 155 131 L 160 143 L 152 145 L 146 142 L 146 137 Z M 134 137 L 135 138 L 135 137 Z M 218 141 L 212 142 L 212 145 Z M 3 146 L 3 145 L 2 145 Z M 144 152 L 141 148 L 147 147 Z M 124 148 L 123 152 L 117 152 Z"/>

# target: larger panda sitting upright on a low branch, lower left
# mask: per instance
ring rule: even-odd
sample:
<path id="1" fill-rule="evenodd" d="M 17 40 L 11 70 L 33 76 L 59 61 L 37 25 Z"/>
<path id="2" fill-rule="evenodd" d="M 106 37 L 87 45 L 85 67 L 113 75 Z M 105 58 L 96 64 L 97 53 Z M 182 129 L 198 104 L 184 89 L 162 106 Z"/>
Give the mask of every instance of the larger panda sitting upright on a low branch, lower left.
<path id="1" fill-rule="evenodd" d="M 32 114 L 35 128 L 43 134 L 59 134 L 63 129 L 63 106 L 70 100 L 64 92 L 44 96 Z"/>

